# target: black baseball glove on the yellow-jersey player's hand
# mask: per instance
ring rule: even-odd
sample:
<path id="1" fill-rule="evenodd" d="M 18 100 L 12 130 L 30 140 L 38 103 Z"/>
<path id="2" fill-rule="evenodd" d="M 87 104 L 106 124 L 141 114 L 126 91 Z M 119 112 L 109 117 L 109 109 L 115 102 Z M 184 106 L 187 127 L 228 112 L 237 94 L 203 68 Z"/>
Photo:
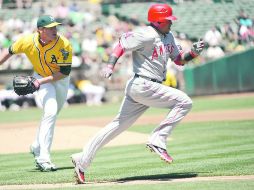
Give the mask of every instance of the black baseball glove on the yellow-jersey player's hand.
<path id="1" fill-rule="evenodd" d="M 32 76 L 15 76 L 13 79 L 13 88 L 17 95 L 27 95 L 39 90 L 40 83 Z"/>

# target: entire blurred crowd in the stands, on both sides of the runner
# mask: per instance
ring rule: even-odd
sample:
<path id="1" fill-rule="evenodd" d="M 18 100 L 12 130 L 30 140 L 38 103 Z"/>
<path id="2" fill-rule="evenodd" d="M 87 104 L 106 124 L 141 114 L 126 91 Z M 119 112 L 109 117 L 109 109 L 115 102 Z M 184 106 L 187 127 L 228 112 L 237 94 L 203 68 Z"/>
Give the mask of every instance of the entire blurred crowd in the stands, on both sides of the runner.
<path id="1" fill-rule="evenodd" d="M 41 2 L 36 7 L 37 11 L 34 11 L 34 17 L 29 21 L 22 20 L 15 15 L 9 19 L 0 18 L 0 51 L 3 48 L 8 48 L 20 36 L 36 31 L 36 21 L 39 15 L 50 14 L 54 16 L 63 23 L 59 27 L 59 33 L 66 36 L 72 43 L 72 67 L 82 71 L 79 76 L 73 77 L 68 94 L 69 103 L 86 102 L 88 105 L 100 105 L 101 102 L 105 101 L 104 97 L 108 88 L 123 88 L 125 81 L 132 75 L 131 55 L 127 53 L 119 59 L 111 81 L 103 81 L 98 77 L 98 71 L 107 62 L 113 43 L 118 40 L 123 32 L 140 27 L 145 23 L 140 23 L 135 19 L 121 21 L 114 15 L 104 16 L 101 14 L 99 0 L 86 2 L 86 6 L 79 6 L 75 1 L 61 1 L 56 6 L 53 6 L 50 1 Z M 225 23 L 223 26 L 213 26 L 204 36 L 200 36 L 207 43 L 206 50 L 190 64 L 202 64 L 225 54 L 242 51 L 253 46 L 253 27 L 253 20 L 243 10 L 232 22 Z M 187 34 L 181 32 L 173 32 L 183 49 L 190 49 L 192 43 L 198 40 L 189 38 Z M 184 90 L 183 68 L 175 66 L 173 63 L 169 63 L 168 67 L 167 76 L 169 79 L 166 85 Z M 0 66 L 0 70 L 31 68 L 32 65 L 24 55 L 11 57 Z M 85 86 L 90 92 L 85 89 Z M 1 97 L 3 94 L 6 93 L 0 92 L 1 102 L 4 101 Z M 12 102 L 15 101 L 13 98 Z M 30 101 L 28 104 L 34 105 L 36 102 L 31 103 Z M 8 103 L 5 107 L 8 107 Z"/>

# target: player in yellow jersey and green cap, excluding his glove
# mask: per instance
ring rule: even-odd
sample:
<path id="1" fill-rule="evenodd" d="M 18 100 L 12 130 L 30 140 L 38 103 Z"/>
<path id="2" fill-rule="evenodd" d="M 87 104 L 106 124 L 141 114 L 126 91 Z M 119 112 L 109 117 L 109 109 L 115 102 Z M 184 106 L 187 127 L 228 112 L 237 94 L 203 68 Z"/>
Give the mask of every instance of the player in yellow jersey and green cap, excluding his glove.
<path id="1" fill-rule="evenodd" d="M 72 64 L 72 46 L 57 34 L 59 24 L 52 16 L 39 17 L 37 32 L 18 39 L 0 54 L 0 64 L 3 64 L 13 54 L 24 53 L 34 67 L 34 85 L 39 89 L 35 98 L 43 115 L 30 149 L 41 171 L 57 170 L 50 159 L 50 147 L 56 117 L 66 101 Z"/>

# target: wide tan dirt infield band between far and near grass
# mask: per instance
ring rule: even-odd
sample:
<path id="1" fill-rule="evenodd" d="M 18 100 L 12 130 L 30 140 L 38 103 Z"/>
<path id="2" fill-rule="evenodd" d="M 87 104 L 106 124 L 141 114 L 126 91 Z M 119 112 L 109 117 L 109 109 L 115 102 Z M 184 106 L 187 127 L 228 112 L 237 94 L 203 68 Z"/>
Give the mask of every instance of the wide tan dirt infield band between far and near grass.
<path id="1" fill-rule="evenodd" d="M 135 125 L 154 124 L 157 125 L 165 115 L 141 116 Z M 96 118 L 96 119 L 72 119 L 59 120 L 55 129 L 55 139 L 52 150 L 63 150 L 77 148 L 82 149 L 101 127 L 104 127 L 112 118 Z M 243 110 L 224 110 L 224 111 L 206 111 L 191 112 L 182 122 L 198 122 L 198 121 L 232 121 L 232 120 L 248 120 L 254 119 L 254 109 Z M 29 145 L 33 141 L 37 130 L 37 122 L 23 122 L 18 124 L 5 124 L 0 127 L 0 153 L 19 153 L 28 152 Z M 145 143 L 148 136 L 135 132 L 123 132 L 116 139 L 111 141 L 107 146 L 119 146 L 128 144 Z M 15 142 L 15 143 L 9 143 Z M 6 146 L 8 145 L 8 146 Z"/>

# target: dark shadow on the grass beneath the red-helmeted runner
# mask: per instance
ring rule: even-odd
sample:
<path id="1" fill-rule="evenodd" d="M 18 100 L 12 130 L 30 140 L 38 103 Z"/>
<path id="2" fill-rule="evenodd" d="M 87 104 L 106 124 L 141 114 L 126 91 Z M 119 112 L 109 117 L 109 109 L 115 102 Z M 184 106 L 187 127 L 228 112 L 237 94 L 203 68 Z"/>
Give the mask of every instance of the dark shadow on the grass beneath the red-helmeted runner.
<path id="1" fill-rule="evenodd" d="M 152 181 L 170 181 L 173 179 L 181 178 L 192 178 L 197 177 L 197 173 L 186 172 L 186 173 L 170 173 L 170 174 L 158 174 L 158 175 L 145 175 L 145 176 L 133 176 L 118 179 L 116 182 L 125 183 L 128 181 L 138 181 L 138 180 L 152 180 Z"/>

